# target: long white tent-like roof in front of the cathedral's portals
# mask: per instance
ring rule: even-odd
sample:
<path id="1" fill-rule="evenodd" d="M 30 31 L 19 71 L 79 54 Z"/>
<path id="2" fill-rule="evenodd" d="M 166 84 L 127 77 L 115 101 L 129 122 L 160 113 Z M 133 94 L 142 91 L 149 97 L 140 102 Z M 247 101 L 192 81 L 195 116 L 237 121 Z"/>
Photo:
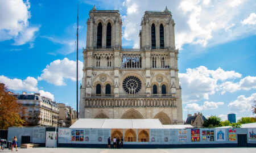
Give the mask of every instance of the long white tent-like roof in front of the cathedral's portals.
<path id="1" fill-rule="evenodd" d="M 183 129 L 191 125 L 162 125 L 158 119 L 98 119 L 80 118 L 69 128 L 96 129 Z"/>

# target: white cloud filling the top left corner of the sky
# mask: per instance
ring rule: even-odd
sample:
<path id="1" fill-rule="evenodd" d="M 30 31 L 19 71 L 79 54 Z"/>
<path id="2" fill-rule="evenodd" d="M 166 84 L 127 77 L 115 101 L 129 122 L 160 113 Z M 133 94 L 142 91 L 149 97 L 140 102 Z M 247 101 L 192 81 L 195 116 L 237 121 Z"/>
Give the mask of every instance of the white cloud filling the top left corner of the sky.
<path id="1" fill-rule="evenodd" d="M 34 41 L 35 32 L 40 26 L 29 27 L 29 9 L 28 1 L 0 1 L 0 41 L 14 39 L 13 45 L 23 45 Z"/>

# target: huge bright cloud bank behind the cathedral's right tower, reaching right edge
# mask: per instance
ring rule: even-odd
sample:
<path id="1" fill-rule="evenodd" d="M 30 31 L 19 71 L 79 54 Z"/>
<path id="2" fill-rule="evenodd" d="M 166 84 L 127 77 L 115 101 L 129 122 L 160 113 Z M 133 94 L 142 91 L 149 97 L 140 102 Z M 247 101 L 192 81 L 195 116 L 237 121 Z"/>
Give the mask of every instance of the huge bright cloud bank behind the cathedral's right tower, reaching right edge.
<path id="1" fill-rule="evenodd" d="M 244 28 L 241 20 L 255 10 L 253 0 L 183 0 L 183 1 L 138 1 L 126 0 L 126 18 L 123 18 L 123 37 L 132 40 L 134 48 L 139 47 L 140 23 L 145 10 L 172 12 L 175 20 L 176 46 L 197 44 L 211 46 L 253 35 L 256 27 Z M 138 9 L 139 8 L 139 9 Z M 240 12 L 243 12 L 242 14 Z M 253 24 L 254 15 L 244 24 Z M 229 27 L 229 28 L 228 28 Z"/>

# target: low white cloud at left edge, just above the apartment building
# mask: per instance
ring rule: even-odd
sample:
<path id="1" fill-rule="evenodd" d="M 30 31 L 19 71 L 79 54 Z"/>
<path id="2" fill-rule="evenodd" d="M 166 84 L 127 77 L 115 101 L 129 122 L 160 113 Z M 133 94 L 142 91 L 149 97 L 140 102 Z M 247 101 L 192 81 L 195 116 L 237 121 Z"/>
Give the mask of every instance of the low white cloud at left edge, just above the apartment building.
<path id="1" fill-rule="evenodd" d="M 30 76 L 24 80 L 21 80 L 16 78 L 10 79 L 6 76 L 0 75 L 0 82 L 5 83 L 10 90 L 26 90 L 31 92 L 38 91 L 38 80 Z"/>

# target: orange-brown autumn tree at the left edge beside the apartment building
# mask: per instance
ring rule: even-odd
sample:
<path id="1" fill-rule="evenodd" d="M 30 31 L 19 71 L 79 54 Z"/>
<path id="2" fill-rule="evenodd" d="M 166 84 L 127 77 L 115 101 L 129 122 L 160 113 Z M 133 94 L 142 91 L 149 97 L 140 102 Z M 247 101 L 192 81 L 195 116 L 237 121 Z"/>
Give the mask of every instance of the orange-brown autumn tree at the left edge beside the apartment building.
<path id="1" fill-rule="evenodd" d="M 0 129 L 11 126 L 23 126 L 25 109 L 19 104 L 16 97 L 8 94 L 5 84 L 0 83 Z"/>

